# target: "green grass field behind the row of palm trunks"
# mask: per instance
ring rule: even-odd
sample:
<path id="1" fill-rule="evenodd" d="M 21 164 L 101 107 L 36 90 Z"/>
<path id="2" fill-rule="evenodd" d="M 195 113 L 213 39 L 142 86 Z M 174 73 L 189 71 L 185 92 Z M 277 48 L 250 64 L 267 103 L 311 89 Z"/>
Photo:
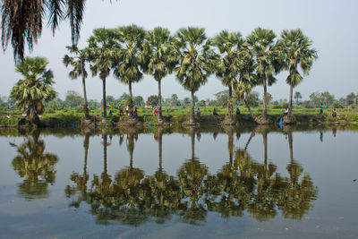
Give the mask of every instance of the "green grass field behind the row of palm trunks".
<path id="1" fill-rule="evenodd" d="M 195 112 L 198 107 L 195 107 Z M 226 115 L 227 108 L 226 107 L 200 107 L 201 115 L 212 115 L 212 112 L 216 108 L 218 115 Z M 236 107 L 234 107 L 235 112 Z M 337 118 L 333 118 L 331 116 L 333 108 L 324 108 L 323 115 L 320 115 L 320 111 L 318 108 L 305 108 L 305 107 L 294 107 L 294 116 L 298 122 L 333 122 L 333 121 L 345 121 L 345 122 L 358 122 L 358 107 L 344 107 L 337 109 Z M 120 121 L 121 116 L 119 116 L 119 112 L 115 108 L 108 108 L 107 114 L 109 111 L 113 111 L 114 117 L 112 119 L 109 118 L 111 124 L 115 125 L 118 121 Z M 242 115 L 250 116 L 250 112 L 246 107 L 240 106 L 240 110 Z M 284 108 L 276 108 L 276 107 L 268 107 L 268 118 L 271 121 L 276 122 L 277 119 L 283 114 Z M 262 106 L 253 107 L 252 111 L 256 115 L 262 114 Z M 90 115 L 101 115 L 101 109 L 92 109 L 90 110 Z M 163 116 L 166 118 L 173 117 L 188 117 L 191 114 L 190 107 L 162 107 Z M 11 115 L 8 117 L 7 115 Z M 156 123 L 157 117 L 153 116 L 152 110 L 145 109 L 144 107 L 138 107 L 138 115 L 143 122 L 152 121 L 153 124 Z M 64 108 L 62 110 L 54 110 L 47 108 L 44 115 L 40 116 L 41 122 L 43 122 L 46 126 L 75 126 L 80 124 L 81 117 L 83 116 L 82 107 L 75 108 Z M 181 119 L 182 120 L 182 119 Z M 19 110 L 0 110 L 0 125 L 19 125 L 19 123 L 24 124 L 23 117 L 21 116 L 21 112 Z M 179 123 L 179 122 L 178 122 Z"/>

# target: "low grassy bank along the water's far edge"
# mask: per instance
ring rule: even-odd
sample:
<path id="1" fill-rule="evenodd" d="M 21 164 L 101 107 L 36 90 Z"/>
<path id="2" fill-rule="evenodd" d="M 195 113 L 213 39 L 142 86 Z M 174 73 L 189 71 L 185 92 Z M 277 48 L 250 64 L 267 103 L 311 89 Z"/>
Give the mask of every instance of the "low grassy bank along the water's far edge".
<path id="1" fill-rule="evenodd" d="M 259 115 L 260 116 L 260 115 Z M 197 115 L 196 121 L 200 125 L 219 125 L 223 124 L 226 115 Z M 268 115 L 270 125 L 278 125 L 282 115 Z M 358 124 L 358 114 L 339 114 L 336 118 L 331 115 L 320 114 L 303 114 L 295 113 L 295 124 Z M 81 114 L 64 115 L 64 114 L 45 114 L 40 117 L 38 127 L 41 128 L 58 128 L 58 127 L 121 127 L 121 126 L 155 126 L 158 124 L 172 125 L 175 127 L 187 123 L 189 115 L 165 115 L 163 122 L 158 123 L 157 116 L 139 115 L 135 118 L 124 115 L 111 115 L 107 121 L 101 117 L 92 116 L 90 120 L 85 121 Z M 254 125 L 256 124 L 251 115 L 235 115 L 234 124 L 236 125 Z M 2 128 L 28 128 L 31 127 L 30 121 L 21 115 L 2 115 L 0 116 L 0 127 Z"/>

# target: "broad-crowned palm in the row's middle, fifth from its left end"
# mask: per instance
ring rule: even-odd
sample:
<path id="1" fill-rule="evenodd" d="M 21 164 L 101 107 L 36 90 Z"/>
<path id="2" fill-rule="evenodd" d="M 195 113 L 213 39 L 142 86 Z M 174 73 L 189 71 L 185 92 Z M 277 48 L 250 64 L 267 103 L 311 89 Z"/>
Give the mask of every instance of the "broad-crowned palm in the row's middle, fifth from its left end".
<path id="1" fill-rule="evenodd" d="M 183 88 L 192 93 L 189 124 L 195 124 L 194 93 L 208 80 L 215 62 L 215 55 L 207 39 L 203 28 L 182 28 L 175 34 L 175 47 L 179 57 L 179 65 L 175 67 L 176 77 Z"/>

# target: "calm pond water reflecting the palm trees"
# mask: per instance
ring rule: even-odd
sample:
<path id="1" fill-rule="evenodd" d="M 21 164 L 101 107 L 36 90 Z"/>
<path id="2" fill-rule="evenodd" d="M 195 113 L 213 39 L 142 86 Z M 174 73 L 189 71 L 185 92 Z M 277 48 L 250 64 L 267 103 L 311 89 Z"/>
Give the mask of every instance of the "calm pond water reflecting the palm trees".
<path id="1" fill-rule="evenodd" d="M 358 131 L 0 131 L 1 238 L 358 238 Z"/>

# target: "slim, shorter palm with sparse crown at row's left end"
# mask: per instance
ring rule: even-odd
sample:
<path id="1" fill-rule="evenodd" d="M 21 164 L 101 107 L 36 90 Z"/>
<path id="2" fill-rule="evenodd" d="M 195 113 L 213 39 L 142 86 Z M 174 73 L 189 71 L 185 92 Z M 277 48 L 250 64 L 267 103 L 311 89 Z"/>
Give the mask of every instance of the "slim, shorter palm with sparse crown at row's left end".
<path id="1" fill-rule="evenodd" d="M 74 54 L 74 56 L 64 55 L 64 65 L 67 67 L 69 64 L 73 66 L 73 70 L 69 73 L 69 76 L 72 78 L 72 80 L 77 79 L 81 75 L 82 77 L 82 87 L 83 87 L 83 98 L 84 98 L 84 104 L 83 104 L 83 112 L 85 118 L 88 120 L 90 119 L 89 114 L 89 105 L 87 102 L 87 93 L 86 93 L 86 78 L 88 76 L 88 73 L 85 68 L 85 63 L 88 58 L 88 52 L 84 49 L 80 50 L 76 46 L 66 47 L 67 50 Z"/>

